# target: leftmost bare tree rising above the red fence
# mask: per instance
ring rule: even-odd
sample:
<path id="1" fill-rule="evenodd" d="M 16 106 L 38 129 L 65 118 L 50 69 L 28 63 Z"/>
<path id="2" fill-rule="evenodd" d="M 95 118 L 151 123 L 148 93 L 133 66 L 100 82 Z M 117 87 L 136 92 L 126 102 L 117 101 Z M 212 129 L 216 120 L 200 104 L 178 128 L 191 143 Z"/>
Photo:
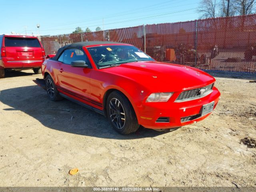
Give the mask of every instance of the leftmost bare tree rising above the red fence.
<path id="1" fill-rule="evenodd" d="M 202 18 L 215 18 L 217 16 L 217 0 L 201 0 L 197 12 Z"/>

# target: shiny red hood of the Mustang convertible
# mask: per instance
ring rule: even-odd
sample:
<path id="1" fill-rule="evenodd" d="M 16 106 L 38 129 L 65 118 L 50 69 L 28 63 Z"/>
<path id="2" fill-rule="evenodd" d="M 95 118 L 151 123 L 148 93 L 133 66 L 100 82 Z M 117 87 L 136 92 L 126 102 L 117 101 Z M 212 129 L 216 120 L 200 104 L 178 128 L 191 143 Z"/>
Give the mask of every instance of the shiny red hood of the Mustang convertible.
<path id="1" fill-rule="evenodd" d="M 155 61 L 131 62 L 101 70 L 129 78 L 158 92 L 199 88 L 215 81 L 212 76 L 196 68 Z"/>

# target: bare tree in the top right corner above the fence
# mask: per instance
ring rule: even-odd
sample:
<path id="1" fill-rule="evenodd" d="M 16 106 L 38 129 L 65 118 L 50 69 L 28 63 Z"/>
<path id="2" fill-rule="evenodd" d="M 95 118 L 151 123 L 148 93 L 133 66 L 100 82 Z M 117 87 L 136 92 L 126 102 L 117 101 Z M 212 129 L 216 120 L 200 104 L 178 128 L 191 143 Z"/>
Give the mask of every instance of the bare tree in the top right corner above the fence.
<path id="1" fill-rule="evenodd" d="M 239 15 L 248 15 L 254 12 L 255 0 L 235 0 L 234 8 Z"/>

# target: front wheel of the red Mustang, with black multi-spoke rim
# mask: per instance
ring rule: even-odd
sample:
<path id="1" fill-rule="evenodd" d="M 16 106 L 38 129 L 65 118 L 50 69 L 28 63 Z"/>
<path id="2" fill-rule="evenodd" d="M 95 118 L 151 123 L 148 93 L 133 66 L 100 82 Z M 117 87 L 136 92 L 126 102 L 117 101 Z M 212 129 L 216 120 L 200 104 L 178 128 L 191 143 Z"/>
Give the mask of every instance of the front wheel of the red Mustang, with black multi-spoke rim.
<path id="1" fill-rule="evenodd" d="M 130 134 L 139 128 L 132 104 L 119 91 L 111 92 L 107 99 L 107 115 L 110 124 L 120 134 Z"/>

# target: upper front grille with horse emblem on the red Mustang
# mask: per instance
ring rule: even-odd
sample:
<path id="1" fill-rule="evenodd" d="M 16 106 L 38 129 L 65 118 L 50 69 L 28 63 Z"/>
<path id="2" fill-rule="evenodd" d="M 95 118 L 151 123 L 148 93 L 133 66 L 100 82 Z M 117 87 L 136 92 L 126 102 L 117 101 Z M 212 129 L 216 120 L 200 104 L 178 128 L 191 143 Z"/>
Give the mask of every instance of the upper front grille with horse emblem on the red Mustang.
<path id="1" fill-rule="evenodd" d="M 213 84 L 210 84 L 205 87 L 184 91 L 178 96 L 178 98 L 176 98 L 175 102 L 188 101 L 199 98 L 201 96 L 206 96 L 208 93 L 210 93 L 209 91 L 212 90 L 212 87 Z M 204 90 L 203 93 L 202 90 Z"/>

